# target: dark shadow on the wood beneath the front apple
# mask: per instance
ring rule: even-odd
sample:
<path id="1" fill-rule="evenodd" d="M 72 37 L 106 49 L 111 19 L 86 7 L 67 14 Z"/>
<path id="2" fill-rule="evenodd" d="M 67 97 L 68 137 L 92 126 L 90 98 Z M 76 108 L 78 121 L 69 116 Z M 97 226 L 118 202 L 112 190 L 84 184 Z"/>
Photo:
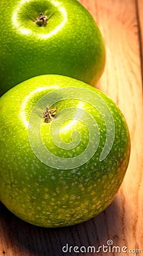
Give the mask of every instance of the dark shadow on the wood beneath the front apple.
<path id="1" fill-rule="evenodd" d="M 3 247 L 3 252 L 1 251 L 0 254 L 6 253 L 7 256 L 83 255 L 81 252 L 75 254 L 73 247 L 95 246 L 97 249 L 99 245 L 107 245 L 109 239 L 118 242 L 120 221 L 122 221 L 121 210 L 117 196 L 106 210 L 89 221 L 62 228 L 40 228 L 20 220 L 0 203 L 2 243 L 7 246 Z M 68 244 L 67 253 L 67 247 L 64 247 L 65 252 L 62 251 L 66 244 Z M 73 246 L 71 253 L 70 246 Z"/>

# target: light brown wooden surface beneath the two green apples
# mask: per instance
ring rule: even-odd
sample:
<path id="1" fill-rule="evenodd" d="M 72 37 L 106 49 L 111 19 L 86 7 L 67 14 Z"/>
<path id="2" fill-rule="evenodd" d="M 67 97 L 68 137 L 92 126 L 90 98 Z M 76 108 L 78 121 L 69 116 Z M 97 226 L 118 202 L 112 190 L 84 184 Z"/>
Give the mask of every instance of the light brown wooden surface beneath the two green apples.
<path id="1" fill-rule="evenodd" d="M 131 158 L 113 203 L 83 224 L 45 229 L 19 220 L 0 204 L 0 255 L 125 255 L 121 253 L 63 253 L 62 247 L 107 245 L 134 249 L 143 255 L 143 105 L 142 0 L 80 0 L 101 28 L 106 45 L 106 68 L 98 88 L 122 110 L 131 133 Z M 141 253 L 135 250 L 140 249 Z M 81 249 L 82 250 L 82 249 Z M 84 248 L 83 248 L 84 251 Z M 127 255 L 127 254 L 126 254 Z"/>

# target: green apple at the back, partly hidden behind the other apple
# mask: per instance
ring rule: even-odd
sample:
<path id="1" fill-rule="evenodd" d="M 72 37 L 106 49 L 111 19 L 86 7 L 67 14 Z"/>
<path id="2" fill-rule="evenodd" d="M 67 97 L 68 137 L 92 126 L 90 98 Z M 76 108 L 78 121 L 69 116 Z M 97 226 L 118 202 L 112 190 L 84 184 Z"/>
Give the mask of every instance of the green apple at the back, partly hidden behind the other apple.
<path id="1" fill-rule="evenodd" d="M 1 95 L 33 76 L 59 74 L 94 84 L 105 47 L 92 15 L 76 0 L 0 1 Z"/>

